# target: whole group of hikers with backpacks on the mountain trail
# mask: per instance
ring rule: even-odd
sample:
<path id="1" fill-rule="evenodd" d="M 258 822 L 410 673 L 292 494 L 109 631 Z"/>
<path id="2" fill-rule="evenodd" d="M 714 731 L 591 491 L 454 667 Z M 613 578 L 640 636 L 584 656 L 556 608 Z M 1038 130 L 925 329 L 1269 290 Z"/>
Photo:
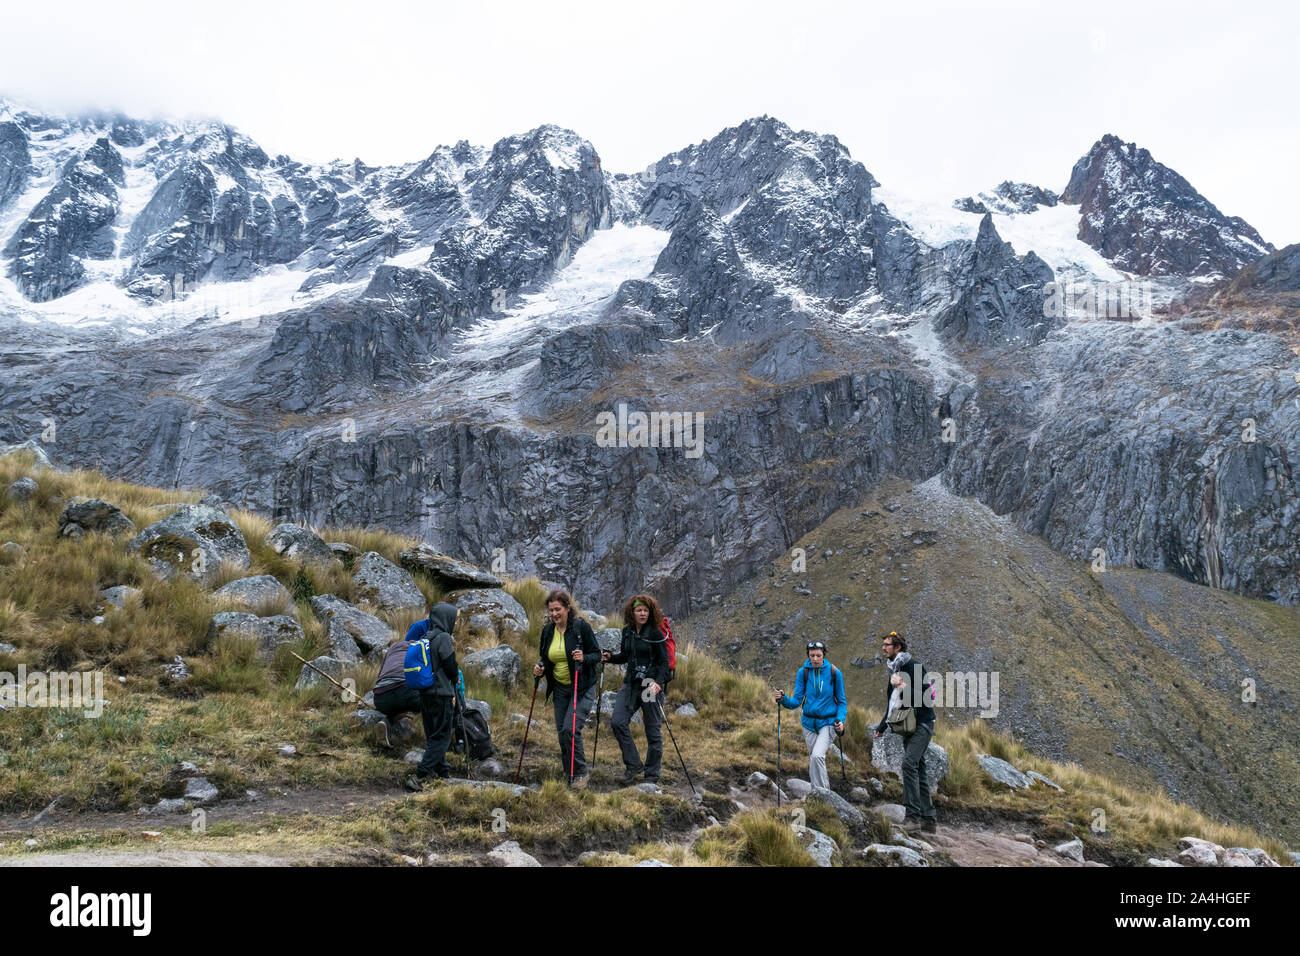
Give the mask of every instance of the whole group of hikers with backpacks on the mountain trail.
<path id="1" fill-rule="evenodd" d="M 434 778 L 451 775 L 447 750 L 454 734 L 459 732 L 459 745 L 468 747 L 471 752 L 473 737 L 488 734 L 486 722 L 471 711 L 465 702 L 464 676 L 456 665 L 451 639 L 456 613 L 455 605 L 433 605 L 426 619 L 417 620 L 404 639 L 389 646 L 374 684 L 374 708 L 385 717 L 377 727 L 382 745 L 389 745 L 389 722 L 410 713 L 419 713 L 424 722 L 424 758 L 415 774 L 406 780 L 406 787 L 411 791 L 422 790 Z M 538 637 L 537 663 L 533 666 L 533 704 L 536 705 L 538 688 L 545 679 L 543 700 L 551 701 L 554 706 L 560 762 L 569 786 L 582 790 L 589 782 L 582 727 L 601 696 L 604 663 L 624 665 L 623 685 L 615 697 L 611 719 L 624 766 L 619 784 L 630 786 L 642 775 L 647 783 L 658 782 L 663 762 L 662 730 L 666 724 L 663 696 L 676 665 L 671 622 L 658 602 L 645 593 L 628 598 L 616 652 L 602 650 L 592 626 L 578 615 L 568 592 L 556 588 L 546 596 L 546 617 Z M 884 717 L 872 731 L 876 737 L 887 731 L 902 737 L 904 825 L 932 831 L 935 805 L 930 795 L 926 749 L 935 730 L 935 710 L 927 704 L 933 701 L 933 689 L 928 685 L 922 665 L 907 652 L 907 641 L 897 631 L 889 632 L 880 649 L 889 679 L 885 685 Z M 802 708 L 801 726 L 809 749 L 811 784 L 829 788 L 827 753 L 832 739 L 845 732 L 849 698 L 844 671 L 827 659 L 826 644 L 809 641 L 806 654 L 807 659 L 794 675 L 793 693 L 776 691 L 774 695 L 779 705 L 777 763 L 780 711 Z M 644 760 L 630 730 L 637 711 L 641 713 L 646 735 Z M 532 726 L 532 706 L 528 726 Z"/>

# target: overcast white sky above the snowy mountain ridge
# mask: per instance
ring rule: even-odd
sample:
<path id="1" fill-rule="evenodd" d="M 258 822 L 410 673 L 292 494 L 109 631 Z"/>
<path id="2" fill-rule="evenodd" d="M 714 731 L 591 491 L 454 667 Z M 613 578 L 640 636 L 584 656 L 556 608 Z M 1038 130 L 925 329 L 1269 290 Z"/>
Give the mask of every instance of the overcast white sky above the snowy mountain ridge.
<path id="1" fill-rule="evenodd" d="M 5 4 L 0 94 L 218 116 L 270 152 L 402 163 L 555 122 L 642 169 L 770 113 L 883 183 L 1060 190 L 1102 133 L 1300 241 L 1295 4 Z"/>

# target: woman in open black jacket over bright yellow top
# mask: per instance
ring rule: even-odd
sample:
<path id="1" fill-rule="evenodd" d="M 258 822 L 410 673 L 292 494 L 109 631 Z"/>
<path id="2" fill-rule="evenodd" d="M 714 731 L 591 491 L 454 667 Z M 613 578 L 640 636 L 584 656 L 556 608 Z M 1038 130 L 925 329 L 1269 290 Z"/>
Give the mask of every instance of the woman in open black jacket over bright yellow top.
<path id="1" fill-rule="evenodd" d="M 537 646 L 534 676 L 546 676 L 546 698 L 555 698 L 555 732 L 560 740 L 560 761 L 569 786 L 586 787 L 586 754 L 582 752 L 582 724 L 586 723 L 598 692 L 601 645 L 592 626 L 578 617 L 567 591 L 546 596 L 550 620 L 542 627 Z M 577 680 L 577 714 L 573 708 L 573 682 Z M 573 726 L 577 724 L 577 732 Z M 576 753 L 575 753 L 576 750 Z M 569 777 L 569 767 L 573 775 Z"/>

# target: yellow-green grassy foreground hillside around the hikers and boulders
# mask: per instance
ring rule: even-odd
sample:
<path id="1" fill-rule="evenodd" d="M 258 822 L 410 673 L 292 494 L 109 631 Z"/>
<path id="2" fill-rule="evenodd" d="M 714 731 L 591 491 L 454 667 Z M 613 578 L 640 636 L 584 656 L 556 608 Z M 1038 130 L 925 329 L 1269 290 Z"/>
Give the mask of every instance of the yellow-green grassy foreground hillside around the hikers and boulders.
<path id="1" fill-rule="evenodd" d="M 208 591 L 185 579 L 155 580 L 146 562 L 126 550 L 122 537 L 90 535 L 73 541 L 57 536 L 60 498 L 103 497 L 143 528 L 166 514 L 151 510 L 155 506 L 195 501 L 198 493 L 140 488 L 94 472 L 32 470 L 30 459 L 0 458 L 0 489 L 22 475 L 39 483 L 30 506 L 16 505 L 0 492 L 0 544 L 16 541 L 26 549 L 22 559 L 0 566 L 0 643 L 16 648 L 0 654 L 0 671 L 16 671 L 20 663 L 29 670 L 100 670 L 108 706 L 100 718 L 58 709 L 0 711 L 0 856 L 73 848 L 113 851 L 138 845 L 146 839 L 142 831 L 148 830 L 147 839 L 160 848 L 270 853 L 287 861 L 387 864 L 424 860 L 434 852 L 439 862 L 477 862 L 502 839 L 519 840 L 543 862 L 573 861 L 584 851 L 599 853 L 588 862 L 610 865 L 649 857 L 676 865 L 809 861 L 789 826 L 788 808 L 779 812 L 770 801 L 744 795 L 748 809 L 741 812 L 732 801 L 734 788 L 744 787 L 754 770 L 775 773 L 775 705 L 768 682 L 724 663 L 703 646 L 681 648 L 679 676 L 667 702 L 677 743 L 705 793 L 698 805 L 689 800 L 667 735 L 667 792 L 654 796 L 616 790 L 621 765 L 607 722 L 599 732 L 592 790 L 569 791 L 563 784 L 549 706 L 541 701 L 521 780 L 540 790 L 511 796 L 438 787 L 403 795 L 398 784 L 410 765 L 381 752 L 368 728 L 352 724 L 347 715 L 356 705 L 342 700 L 334 688 L 295 692 L 299 665 L 289 649 L 270 663 L 260 662 L 242 641 L 222 641 L 199 652 L 211 615 L 222 609 Z M 322 652 L 324 627 L 307 598 L 328 592 L 350 600 L 348 570 L 342 563 L 321 570 L 283 559 L 263 544 L 270 528 L 265 519 L 243 512 L 233 518 L 246 535 L 252 567 L 239 572 L 226 568 L 222 579 L 274 575 L 294 596 L 304 630 L 303 640 L 291 649 L 307 658 Z M 361 529 L 320 532 L 326 540 L 350 541 L 390 559 L 413 544 Z M 142 593 L 96 624 L 103 604 L 98 592 L 116 584 L 140 588 Z M 432 581 L 419 584 L 426 597 L 439 596 Z M 512 581 L 507 591 L 529 613 L 529 633 L 515 648 L 526 671 L 543 620 L 545 593 L 536 579 Z M 395 632 L 403 631 L 411 617 L 398 615 L 389 623 Z M 698 622 L 692 626 L 702 630 Z M 458 645 L 459 654 L 471 649 Z M 176 684 L 162 676 L 161 666 L 176 656 L 188 663 L 188 682 Z M 844 652 L 837 650 L 833 658 L 841 666 L 848 663 Z M 606 689 L 615 689 L 620 675 L 618 669 L 607 670 Z M 360 665 L 348 676 L 364 693 L 376 671 L 373 663 Z M 793 674 L 793 658 L 783 659 L 777 672 Z M 859 687 L 875 683 L 857 670 L 849 672 Z M 507 692 L 472 675 L 467 679 L 471 696 L 491 704 L 493 737 L 508 779 L 524 735 L 511 714 L 528 711 L 532 682 L 525 678 Z M 682 702 L 694 704 L 698 715 L 673 717 Z M 874 697 L 867 702 L 875 708 Z M 898 782 L 870 769 L 866 727 L 872 718 L 859 704 L 850 708 L 848 787 L 880 777 L 883 793 L 876 803 L 897 801 Z M 793 726 L 790 718 L 786 727 Z M 640 730 L 634 734 L 644 748 Z M 593 737 L 589 728 L 589 754 Z M 937 741 L 952 758 L 937 805 L 944 819 L 956 825 L 1023 831 L 1049 843 L 1078 835 L 1088 858 L 1113 864 L 1139 864 L 1152 855 L 1170 857 L 1186 835 L 1223 845 L 1264 847 L 1286 861 L 1279 842 L 1247 826 L 1217 823 L 1148 786 L 1124 786 L 1078 765 L 1031 754 L 1010 735 L 983 722 L 958 726 L 944 721 Z M 296 753 L 281 756 L 282 744 L 292 744 Z M 419 740 L 412 745 L 419 747 Z M 1000 792 L 980 771 L 978 753 L 1039 770 L 1066 792 L 1041 787 Z M 139 808 L 181 795 L 181 761 L 196 763 L 221 793 L 202 832 L 191 829 L 188 816 L 135 816 Z M 452 765 L 459 773 L 460 758 L 452 757 Z M 807 758 L 794 732 L 786 736 L 784 769 L 789 775 L 806 775 Z M 835 786 L 848 790 L 838 769 Z M 248 800 L 250 790 L 257 792 L 257 800 Z M 38 845 L 25 847 L 16 836 L 29 832 L 31 817 L 51 804 L 57 826 L 36 831 Z M 1089 826 L 1098 808 L 1108 817 L 1104 832 Z M 888 842 L 890 827 L 872 806 L 863 809 L 867 826 L 859 832 L 849 832 L 833 810 L 820 804 L 806 805 L 807 822 L 845 851 Z M 506 836 L 494 829 L 498 818 L 508 822 Z M 936 862 L 942 860 L 939 853 Z M 862 862 L 848 852 L 844 861 Z"/>

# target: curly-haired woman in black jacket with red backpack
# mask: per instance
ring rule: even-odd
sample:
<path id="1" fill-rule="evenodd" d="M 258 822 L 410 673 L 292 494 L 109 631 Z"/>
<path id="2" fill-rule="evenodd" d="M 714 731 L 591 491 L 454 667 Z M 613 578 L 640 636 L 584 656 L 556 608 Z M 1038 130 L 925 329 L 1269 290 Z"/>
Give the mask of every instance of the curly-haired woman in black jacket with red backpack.
<path id="1" fill-rule="evenodd" d="M 649 594 L 633 594 L 623 607 L 623 643 L 618 654 L 604 652 L 602 658 L 610 663 L 625 663 L 627 675 L 614 704 L 611 727 L 623 750 L 624 773 L 619 779 L 623 786 L 630 786 L 637 774 L 645 770 L 646 783 L 659 780 L 659 765 L 663 760 L 663 710 L 659 695 L 668 683 L 668 644 L 660 630 L 663 614 L 658 602 Z M 641 708 L 641 718 L 646 728 L 646 758 L 641 762 L 637 745 L 632 743 L 632 714 Z"/>

